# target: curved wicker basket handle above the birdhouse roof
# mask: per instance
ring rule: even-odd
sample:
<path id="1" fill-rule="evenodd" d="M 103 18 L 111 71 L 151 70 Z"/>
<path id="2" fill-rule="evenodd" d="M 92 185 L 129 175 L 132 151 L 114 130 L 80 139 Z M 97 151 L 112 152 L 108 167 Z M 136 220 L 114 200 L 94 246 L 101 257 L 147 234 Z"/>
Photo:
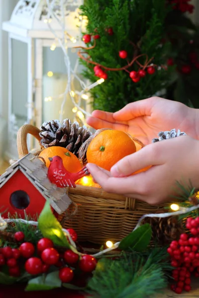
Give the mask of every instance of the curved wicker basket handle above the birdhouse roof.
<path id="1" fill-rule="evenodd" d="M 21 128 L 17 132 L 16 138 L 19 159 L 28 154 L 27 134 L 32 135 L 38 141 L 40 141 L 41 137 L 39 136 L 39 133 L 40 130 L 31 124 L 25 124 L 21 126 Z"/>

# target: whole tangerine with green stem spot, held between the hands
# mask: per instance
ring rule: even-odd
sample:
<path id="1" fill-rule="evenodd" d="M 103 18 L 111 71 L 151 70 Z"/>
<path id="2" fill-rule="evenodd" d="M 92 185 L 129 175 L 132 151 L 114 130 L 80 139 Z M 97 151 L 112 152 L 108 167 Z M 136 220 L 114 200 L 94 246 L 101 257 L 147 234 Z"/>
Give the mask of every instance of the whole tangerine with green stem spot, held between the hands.
<path id="1" fill-rule="evenodd" d="M 135 143 L 126 133 L 104 130 L 89 144 L 87 160 L 109 171 L 117 161 L 135 151 Z"/>

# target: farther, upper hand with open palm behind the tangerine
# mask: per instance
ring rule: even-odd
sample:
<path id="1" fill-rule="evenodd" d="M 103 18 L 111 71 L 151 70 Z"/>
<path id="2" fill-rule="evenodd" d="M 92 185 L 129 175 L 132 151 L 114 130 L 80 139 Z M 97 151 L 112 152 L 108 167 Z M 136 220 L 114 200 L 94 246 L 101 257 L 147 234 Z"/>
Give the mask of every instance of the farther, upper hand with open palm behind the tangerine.
<path id="1" fill-rule="evenodd" d="M 95 129 L 112 128 L 124 131 L 144 144 L 150 144 L 160 131 L 174 128 L 198 139 L 196 113 L 196 109 L 180 102 L 151 97 L 129 103 L 116 113 L 96 110 L 87 123 Z"/>

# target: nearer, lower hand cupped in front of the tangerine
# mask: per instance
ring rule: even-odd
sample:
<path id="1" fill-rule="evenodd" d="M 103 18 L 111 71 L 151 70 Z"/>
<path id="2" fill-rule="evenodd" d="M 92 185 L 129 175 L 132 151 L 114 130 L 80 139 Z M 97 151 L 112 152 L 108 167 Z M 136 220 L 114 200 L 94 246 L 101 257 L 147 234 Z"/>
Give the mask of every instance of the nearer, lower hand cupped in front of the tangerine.
<path id="1" fill-rule="evenodd" d="M 128 176 L 150 165 L 146 172 Z M 159 204 L 179 194 L 176 181 L 186 187 L 191 180 L 199 187 L 199 141 L 181 136 L 150 144 L 122 158 L 110 172 L 91 163 L 87 167 L 106 192 Z"/>

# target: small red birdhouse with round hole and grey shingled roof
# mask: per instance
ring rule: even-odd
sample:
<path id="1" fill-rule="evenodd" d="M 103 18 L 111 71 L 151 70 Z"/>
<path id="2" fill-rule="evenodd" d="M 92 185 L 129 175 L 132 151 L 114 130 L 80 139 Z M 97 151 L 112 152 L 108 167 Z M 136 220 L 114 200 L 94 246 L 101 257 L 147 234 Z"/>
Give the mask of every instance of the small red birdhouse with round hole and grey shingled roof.
<path id="1" fill-rule="evenodd" d="M 58 188 L 47 177 L 44 163 L 29 153 L 12 164 L 0 176 L 0 212 L 17 213 L 22 218 L 39 215 L 46 200 L 58 214 L 72 203 L 65 188 Z"/>

